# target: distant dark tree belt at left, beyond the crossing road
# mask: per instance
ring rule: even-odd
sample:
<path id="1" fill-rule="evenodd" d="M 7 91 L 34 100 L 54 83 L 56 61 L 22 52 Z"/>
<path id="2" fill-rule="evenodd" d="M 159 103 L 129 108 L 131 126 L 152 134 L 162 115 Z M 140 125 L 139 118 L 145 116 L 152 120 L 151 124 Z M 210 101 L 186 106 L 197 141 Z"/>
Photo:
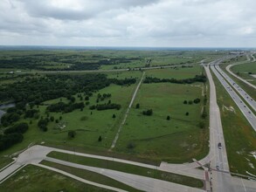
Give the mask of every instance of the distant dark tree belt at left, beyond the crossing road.
<path id="1" fill-rule="evenodd" d="M 101 58 L 101 59 L 99 59 Z M 102 58 L 102 56 L 92 57 L 85 60 L 82 54 L 29 54 L 18 57 L 1 57 L 0 68 L 13 69 L 37 69 L 43 71 L 73 71 L 73 70 L 98 70 L 100 65 L 117 65 L 120 63 L 130 63 L 133 60 L 141 60 L 141 58 Z M 68 65 L 69 67 L 59 67 L 59 65 Z M 51 66 L 51 67 L 45 67 Z"/>

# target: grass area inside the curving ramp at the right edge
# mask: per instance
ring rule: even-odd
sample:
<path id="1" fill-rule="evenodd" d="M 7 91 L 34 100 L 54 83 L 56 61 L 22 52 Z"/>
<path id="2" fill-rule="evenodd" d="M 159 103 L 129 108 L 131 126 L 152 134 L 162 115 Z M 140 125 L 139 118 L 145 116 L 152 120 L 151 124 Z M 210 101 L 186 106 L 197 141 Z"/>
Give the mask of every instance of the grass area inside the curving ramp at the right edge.
<path id="1" fill-rule="evenodd" d="M 254 75 L 256 74 L 256 62 L 235 65 L 232 66 L 231 70 L 232 72 L 239 74 L 241 78 L 248 80 L 248 82 L 252 83 L 253 85 L 256 85 L 256 79 L 249 74 L 249 72 L 252 72 Z"/>

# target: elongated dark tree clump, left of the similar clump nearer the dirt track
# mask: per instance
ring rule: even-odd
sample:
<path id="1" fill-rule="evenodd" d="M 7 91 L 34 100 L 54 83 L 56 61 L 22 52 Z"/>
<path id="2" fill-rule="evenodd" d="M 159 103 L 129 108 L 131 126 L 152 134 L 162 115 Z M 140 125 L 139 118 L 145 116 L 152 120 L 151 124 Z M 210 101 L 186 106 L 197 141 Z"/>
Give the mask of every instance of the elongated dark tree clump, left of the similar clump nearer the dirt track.
<path id="1" fill-rule="evenodd" d="M 83 109 L 85 107 L 84 102 L 80 102 L 80 103 L 64 103 L 64 102 L 59 102 L 59 103 L 55 103 L 52 104 L 50 106 L 47 106 L 47 111 L 49 112 L 63 112 L 63 113 L 70 113 L 73 112 L 73 110 L 75 109 Z"/>

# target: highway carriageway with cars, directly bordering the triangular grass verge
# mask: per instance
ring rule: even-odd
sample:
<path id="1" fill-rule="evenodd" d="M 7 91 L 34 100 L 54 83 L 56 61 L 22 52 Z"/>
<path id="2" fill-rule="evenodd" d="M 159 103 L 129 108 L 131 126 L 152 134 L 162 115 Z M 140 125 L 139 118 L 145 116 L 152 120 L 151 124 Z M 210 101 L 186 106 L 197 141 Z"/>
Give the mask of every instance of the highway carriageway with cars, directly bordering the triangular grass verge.
<path id="1" fill-rule="evenodd" d="M 234 102 L 239 106 L 240 111 L 246 117 L 246 120 L 251 124 L 254 131 L 256 131 L 256 116 L 253 114 L 251 109 L 246 105 L 246 103 L 239 97 L 239 95 L 233 91 L 232 87 L 226 82 L 226 80 L 221 76 L 221 74 L 217 71 L 216 65 L 219 64 L 220 61 L 211 63 L 211 71 L 216 75 L 222 86 L 224 86 L 225 90 L 232 97 Z M 254 101 L 255 102 L 255 101 Z"/>

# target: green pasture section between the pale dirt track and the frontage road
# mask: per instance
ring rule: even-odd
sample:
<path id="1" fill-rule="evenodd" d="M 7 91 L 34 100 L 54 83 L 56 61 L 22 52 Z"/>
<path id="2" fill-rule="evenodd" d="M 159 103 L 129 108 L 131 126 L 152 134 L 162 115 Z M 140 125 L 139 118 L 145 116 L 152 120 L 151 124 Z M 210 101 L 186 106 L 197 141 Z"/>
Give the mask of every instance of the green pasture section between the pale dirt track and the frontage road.
<path id="1" fill-rule="evenodd" d="M 114 150 L 176 163 L 203 158 L 209 150 L 207 120 L 201 118 L 203 87 L 203 84 L 142 84 Z M 183 104 L 184 100 L 197 98 L 201 99 L 198 104 Z M 136 108 L 137 103 L 140 108 Z M 148 109 L 153 110 L 152 116 L 142 115 Z M 201 121 L 205 128 L 198 126 Z"/>

